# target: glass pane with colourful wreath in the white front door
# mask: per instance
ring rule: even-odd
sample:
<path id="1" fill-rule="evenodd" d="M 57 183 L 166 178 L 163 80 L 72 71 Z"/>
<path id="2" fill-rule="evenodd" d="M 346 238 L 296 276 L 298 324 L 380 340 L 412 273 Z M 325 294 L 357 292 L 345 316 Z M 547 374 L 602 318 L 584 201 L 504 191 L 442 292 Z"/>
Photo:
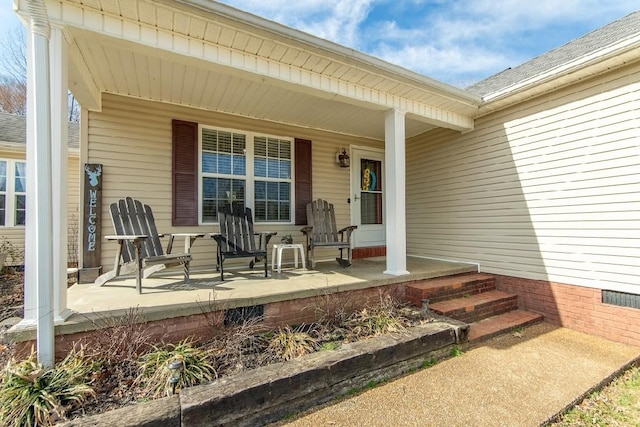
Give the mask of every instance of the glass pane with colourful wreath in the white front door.
<path id="1" fill-rule="evenodd" d="M 360 222 L 382 224 L 382 162 L 360 160 Z"/>

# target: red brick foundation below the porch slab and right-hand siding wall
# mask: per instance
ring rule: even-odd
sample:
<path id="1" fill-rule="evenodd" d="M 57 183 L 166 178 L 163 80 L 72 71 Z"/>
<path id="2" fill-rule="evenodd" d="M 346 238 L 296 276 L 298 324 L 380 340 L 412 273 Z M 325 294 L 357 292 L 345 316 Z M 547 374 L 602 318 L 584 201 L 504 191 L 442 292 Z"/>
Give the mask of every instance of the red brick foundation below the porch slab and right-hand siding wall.
<path id="1" fill-rule="evenodd" d="M 415 282 L 408 282 L 415 283 Z M 602 303 L 602 291 L 580 286 L 495 275 L 496 288 L 517 294 L 518 308 L 542 314 L 545 321 L 587 334 L 640 347 L 640 310 Z M 319 295 L 264 305 L 264 325 L 275 328 L 318 320 L 323 313 L 354 312 L 390 295 L 406 301 L 407 283 Z M 211 312 L 148 322 L 146 333 L 155 342 L 177 342 L 189 336 L 207 340 L 223 327 L 224 313 Z M 97 331 L 56 336 L 56 357 L 61 358 L 79 341 Z M 34 346 L 33 341 L 18 344 L 21 353 Z"/>

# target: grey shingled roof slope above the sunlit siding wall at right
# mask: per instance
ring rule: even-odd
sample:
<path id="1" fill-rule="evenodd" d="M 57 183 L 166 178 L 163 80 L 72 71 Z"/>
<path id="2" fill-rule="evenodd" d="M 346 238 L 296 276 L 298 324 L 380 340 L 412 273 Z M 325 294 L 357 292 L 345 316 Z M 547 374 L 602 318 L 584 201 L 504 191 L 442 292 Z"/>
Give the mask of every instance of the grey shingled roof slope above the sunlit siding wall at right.
<path id="1" fill-rule="evenodd" d="M 487 79 L 481 80 L 469 86 L 466 90 L 485 97 L 588 56 L 594 51 L 614 45 L 629 37 L 636 36 L 639 32 L 640 11 L 633 12 L 604 27 L 598 28 L 582 37 L 550 50 L 524 64 L 508 68 Z"/>

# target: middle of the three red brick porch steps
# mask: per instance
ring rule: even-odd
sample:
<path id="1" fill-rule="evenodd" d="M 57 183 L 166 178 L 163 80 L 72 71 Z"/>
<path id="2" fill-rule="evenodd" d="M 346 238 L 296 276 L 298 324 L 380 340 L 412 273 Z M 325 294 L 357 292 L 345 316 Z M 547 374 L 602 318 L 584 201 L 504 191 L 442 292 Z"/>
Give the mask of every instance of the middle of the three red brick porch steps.
<path id="1" fill-rule="evenodd" d="M 518 309 L 518 296 L 502 291 L 487 291 L 429 304 L 429 310 L 466 323 Z"/>

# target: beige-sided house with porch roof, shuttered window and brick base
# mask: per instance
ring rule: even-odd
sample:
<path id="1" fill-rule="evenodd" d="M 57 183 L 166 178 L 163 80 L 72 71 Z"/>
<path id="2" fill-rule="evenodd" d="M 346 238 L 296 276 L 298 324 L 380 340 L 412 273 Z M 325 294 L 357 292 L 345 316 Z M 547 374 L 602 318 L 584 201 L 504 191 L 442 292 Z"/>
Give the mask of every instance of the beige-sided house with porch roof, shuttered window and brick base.
<path id="1" fill-rule="evenodd" d="M 103 234 L 132 196 L 165 232 L 241 202 L 301 237 L 324 198 L 385 273 L 475 263 L 552 322 L 640 345 L 638 309 L 606 303 L 640 305 L 640 12 L 461 90 L 217 2 L 30 6 L 83 108 L 80 161 L 103 165 Z"/>

